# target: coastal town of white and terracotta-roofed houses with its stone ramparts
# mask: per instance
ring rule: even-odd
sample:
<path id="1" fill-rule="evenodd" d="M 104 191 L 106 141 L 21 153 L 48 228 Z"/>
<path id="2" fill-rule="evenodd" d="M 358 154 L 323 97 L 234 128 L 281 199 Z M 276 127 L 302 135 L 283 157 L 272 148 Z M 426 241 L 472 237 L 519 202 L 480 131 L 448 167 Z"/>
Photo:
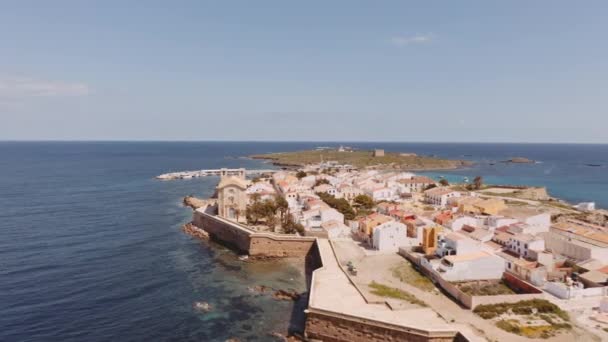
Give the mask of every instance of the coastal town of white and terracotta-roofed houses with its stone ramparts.
<path id="1" fill-rule="evenodd" d="M 608 340 L 604 211 L 545 188 L 370 165 L 386 154 L 365 153 L 365 165 L 213 170 L 215 194 L 184 200 L 187 231 L 251 260 L 305 257 L 301 339 Z"/>

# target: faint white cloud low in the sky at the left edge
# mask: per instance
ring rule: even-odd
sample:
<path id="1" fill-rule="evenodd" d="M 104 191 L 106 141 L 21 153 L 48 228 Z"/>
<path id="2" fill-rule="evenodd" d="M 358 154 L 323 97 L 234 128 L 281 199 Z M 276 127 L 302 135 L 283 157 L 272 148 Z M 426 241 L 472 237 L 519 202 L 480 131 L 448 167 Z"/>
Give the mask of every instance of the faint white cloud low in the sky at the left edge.
<path id="1" fill-rule="evenodd" d="M 89 93 L 89 86 L 79 82 L 0 77 L 0 98 L 84 96 Z"/>

